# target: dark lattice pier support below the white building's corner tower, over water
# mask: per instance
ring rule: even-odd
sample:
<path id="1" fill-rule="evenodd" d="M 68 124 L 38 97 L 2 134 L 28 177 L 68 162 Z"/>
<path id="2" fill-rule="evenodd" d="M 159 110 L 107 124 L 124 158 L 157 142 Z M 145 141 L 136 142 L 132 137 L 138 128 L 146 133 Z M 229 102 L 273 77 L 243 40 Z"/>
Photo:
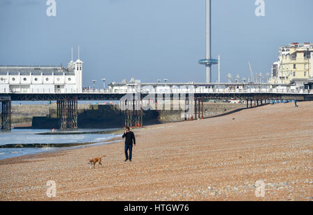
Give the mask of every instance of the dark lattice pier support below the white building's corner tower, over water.
<path id="1" fill-rule="evenodd" d="M 63 99 L 57 101 L 57 116 L 59 129 L 78 129 L 78 99 Z"/>

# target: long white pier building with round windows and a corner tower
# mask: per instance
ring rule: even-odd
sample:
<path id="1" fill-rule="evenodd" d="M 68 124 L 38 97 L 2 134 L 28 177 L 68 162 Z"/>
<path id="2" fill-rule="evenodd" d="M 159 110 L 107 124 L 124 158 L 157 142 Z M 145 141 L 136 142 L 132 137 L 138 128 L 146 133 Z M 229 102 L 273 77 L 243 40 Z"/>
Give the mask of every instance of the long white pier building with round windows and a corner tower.
<path id="1" fill-rule="evenodd" d="M 81 93 L 83 61 L 61 66 L 0 65 L 0 92 Z"/>

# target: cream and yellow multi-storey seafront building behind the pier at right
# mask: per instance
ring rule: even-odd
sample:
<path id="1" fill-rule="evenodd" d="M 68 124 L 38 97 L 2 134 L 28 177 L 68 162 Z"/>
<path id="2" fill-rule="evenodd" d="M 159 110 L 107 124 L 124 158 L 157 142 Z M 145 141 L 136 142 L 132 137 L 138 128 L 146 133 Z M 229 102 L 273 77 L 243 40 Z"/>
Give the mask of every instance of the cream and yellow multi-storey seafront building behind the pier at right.
<path id="1" fill-rule="evenodd" d="M 310 42 L 282 46 L 278 61 L 273 63 L 269 83 L 295 84 L 303 88 L 313 79 L 313 45 Z"/>

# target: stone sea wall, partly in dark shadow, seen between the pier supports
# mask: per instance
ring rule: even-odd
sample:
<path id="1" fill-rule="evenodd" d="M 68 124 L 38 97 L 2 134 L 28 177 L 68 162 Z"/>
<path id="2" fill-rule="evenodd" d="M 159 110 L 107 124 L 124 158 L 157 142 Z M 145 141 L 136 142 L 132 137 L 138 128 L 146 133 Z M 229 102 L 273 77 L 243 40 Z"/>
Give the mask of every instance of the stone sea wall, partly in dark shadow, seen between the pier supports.
<path id="1" fill-rule="evenodd" d="M 204 118 L 216 116 L 235 109 L 246 107 L 246 104 L 223 102 L 204 102 Z M 117 105 L 79 104 L 79 128 L 116 128 L 125 122 L 124 114 Z M 144 111 L 143 125 L 166 122 L 179 122 L 182 111 Z M 13 126 L 27 124 L 34 129 L 52 129 L 58 127 L 56 104 L 13 105 Z"/>

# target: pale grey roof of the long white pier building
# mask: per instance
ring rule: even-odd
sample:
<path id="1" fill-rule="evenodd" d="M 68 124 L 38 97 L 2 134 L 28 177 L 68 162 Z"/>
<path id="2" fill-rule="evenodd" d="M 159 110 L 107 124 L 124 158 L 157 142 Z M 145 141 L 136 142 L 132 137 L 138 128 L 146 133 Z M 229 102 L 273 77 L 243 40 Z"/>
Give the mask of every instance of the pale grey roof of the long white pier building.
<path id="1" fill-rule="evenodd" d="M 0 65 L 0 75 L 74 75 L 74 70 L 60 66 L 7 66 Z"/>

